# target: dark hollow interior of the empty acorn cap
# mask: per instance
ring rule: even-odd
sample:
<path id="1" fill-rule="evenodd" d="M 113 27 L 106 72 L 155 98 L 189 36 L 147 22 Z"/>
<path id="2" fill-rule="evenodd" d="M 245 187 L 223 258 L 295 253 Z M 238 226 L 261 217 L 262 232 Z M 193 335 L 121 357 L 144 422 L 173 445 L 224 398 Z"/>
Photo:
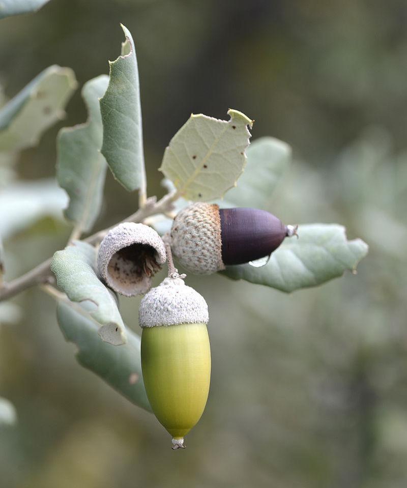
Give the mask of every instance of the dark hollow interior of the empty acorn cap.
<path id="1" fill-rule="evenodd" d="M 157 263 L 157 251 L 146 244 L 131 244 L 111 257 L 107 266 L 108 282 L 119 284 L 123 291 L 131 292 L 135 285 L 150 281 L 161 266 Z"/>

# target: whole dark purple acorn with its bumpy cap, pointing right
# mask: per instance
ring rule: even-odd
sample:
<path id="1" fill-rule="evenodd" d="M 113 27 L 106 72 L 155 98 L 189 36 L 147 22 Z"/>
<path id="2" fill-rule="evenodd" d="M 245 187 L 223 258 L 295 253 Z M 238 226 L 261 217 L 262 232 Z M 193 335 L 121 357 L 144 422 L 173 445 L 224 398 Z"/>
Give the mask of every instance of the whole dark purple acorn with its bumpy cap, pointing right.
<path id="1" fill-rule="evenodd" d="M 185 269 L 211 274 L 269 256 L 286 237 L 297 235 L 297 227 L 265 210 L 195 203 L 175 217 L 170 244 Z"/>

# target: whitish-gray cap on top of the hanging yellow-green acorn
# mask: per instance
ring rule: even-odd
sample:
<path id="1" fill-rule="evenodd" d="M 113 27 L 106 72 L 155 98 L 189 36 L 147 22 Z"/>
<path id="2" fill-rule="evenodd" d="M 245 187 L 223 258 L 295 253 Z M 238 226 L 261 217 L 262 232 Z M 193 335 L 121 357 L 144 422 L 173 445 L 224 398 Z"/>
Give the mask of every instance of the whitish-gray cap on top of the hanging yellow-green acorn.
<path id="1" fill-rule="evenodd" d="M 143 297 L 138 309 L 140 327 L 207 324 L 208 320 L 205 298 L 181 278 L 165 278 Z"/>

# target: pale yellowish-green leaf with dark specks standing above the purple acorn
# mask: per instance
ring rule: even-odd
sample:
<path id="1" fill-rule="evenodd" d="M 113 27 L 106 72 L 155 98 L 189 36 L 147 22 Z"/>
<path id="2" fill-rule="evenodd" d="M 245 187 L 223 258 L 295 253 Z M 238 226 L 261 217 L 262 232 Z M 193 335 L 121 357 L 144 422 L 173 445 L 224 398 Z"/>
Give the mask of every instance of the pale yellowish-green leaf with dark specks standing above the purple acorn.
<path id="1" fill-rule="evenodd" d="M 165 149 L 160 170 L 187 200 L 220 198 L 242 174 L 253 121 L 227 113 L 229 121 L 192 114 Z"/>

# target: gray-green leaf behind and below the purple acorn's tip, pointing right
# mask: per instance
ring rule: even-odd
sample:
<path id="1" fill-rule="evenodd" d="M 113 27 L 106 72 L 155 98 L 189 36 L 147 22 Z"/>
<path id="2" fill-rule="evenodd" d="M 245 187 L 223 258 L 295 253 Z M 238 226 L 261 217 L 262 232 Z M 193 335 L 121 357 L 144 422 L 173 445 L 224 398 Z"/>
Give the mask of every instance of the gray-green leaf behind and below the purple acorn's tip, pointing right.
<path id="1" fill-rule="evenodd" d="M 232 279 L 271 286 L 282 292 L 317 286 L 355 270 L 368 246 L 361 239 L 348 241 L 345 228 L 337 224 L 301 225 L 300 238 L 286 238 L 268 264 L 229 266 L 222 274 Z"/>

